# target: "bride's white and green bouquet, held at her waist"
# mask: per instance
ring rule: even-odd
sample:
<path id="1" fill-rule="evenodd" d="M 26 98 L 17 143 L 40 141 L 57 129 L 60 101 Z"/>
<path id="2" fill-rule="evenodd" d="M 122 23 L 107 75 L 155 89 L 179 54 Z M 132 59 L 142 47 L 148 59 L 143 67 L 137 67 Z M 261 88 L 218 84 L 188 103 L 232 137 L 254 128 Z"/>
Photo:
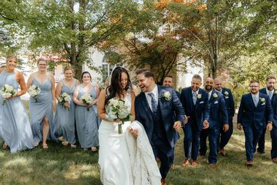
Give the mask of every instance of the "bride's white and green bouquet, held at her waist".
<path id="1" fill-rule="evenodd" d="M 124 100 L 118 100 L 111 98 L 107 105 L 107 119 L 114 121 L 120 119 L 121 123 L 118 124 L 118 134 L 122 134 L 122 125 L 125 121 L 130 121 L 132 114 L 129 113 L 130 107 L 125 103 Z"/>

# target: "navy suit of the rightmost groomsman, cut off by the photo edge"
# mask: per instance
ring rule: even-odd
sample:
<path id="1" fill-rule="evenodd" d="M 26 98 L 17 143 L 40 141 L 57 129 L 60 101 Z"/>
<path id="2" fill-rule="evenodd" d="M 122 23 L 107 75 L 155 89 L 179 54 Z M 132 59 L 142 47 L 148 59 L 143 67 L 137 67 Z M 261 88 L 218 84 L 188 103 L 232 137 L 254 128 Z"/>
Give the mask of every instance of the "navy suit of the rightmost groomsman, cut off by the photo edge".
<path id="1" fill-rule="evenodd" d="M 274 89 L 274 92 L 276 89 Z M 267 90 L 265 88 L 260 89 L 260 93 L 267 94 Z M 273 111 L 273 125 L 272 130 L 270 132 L 271 136 L 271 158 L 274 159 L 277 157 L 277 95 L 274 93 L 271 98 L 271 107 Z M 266 129 L 263 130 L 262 135 L 258 141 L 258 152 L 265 152 L 265 132 Z"/>

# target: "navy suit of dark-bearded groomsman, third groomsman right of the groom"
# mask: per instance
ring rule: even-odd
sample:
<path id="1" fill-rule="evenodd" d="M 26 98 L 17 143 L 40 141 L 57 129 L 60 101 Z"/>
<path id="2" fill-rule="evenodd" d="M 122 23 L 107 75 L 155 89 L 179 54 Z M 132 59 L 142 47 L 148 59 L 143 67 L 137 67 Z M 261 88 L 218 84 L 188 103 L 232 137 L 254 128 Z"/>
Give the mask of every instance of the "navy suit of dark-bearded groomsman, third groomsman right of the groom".
<path id="1" fill-rule="evenodd" d="M 217 97 L 214 97 L 217 96 Z M 208 143 L 210 147 L 210 153 L 208 155 L 209 164 L 217 163 L 217 141 L 220 136 L 220 130 L 224 124 L 228 123 L 228 112 L 226 109 L 224 97 L 221 93 L 213 90 L 211 98 L 209 100 L 210 105 L 210 117 L 208 118 L 209 127 L 201 131 L 200 134 L 200 155 L 206 155 L 207 146 L 206 139 L 208 137 Z"/>

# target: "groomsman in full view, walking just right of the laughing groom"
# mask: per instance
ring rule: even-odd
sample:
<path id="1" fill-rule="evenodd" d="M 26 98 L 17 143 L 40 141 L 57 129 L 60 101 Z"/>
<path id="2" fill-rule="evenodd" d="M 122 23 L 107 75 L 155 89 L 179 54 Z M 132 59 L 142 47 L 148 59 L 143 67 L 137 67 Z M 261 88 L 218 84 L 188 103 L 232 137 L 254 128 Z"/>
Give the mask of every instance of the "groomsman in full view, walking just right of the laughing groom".
<path id="1" fill-rule="evenodd" d="M 199 134 L 202 128 L 208 127 L 208 93 L 200 89 L 202 78 L 199 75 L 194 75 L 191 80 L 191 87 L 186 87 L 181 91 L 181 103 L 185 109 L 184 127 L 184 152 L 185 161 L 183 166 L 188 166 L 191 146 L 191 164 L 197 166 L 197 155 L 199 150 Z"/>

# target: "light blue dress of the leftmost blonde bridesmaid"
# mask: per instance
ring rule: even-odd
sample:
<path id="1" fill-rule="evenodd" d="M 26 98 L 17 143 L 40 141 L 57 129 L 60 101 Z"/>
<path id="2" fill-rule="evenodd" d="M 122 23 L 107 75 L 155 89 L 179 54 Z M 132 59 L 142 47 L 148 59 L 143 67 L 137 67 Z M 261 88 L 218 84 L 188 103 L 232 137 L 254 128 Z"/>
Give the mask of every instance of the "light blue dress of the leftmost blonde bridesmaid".
<path id="1" fill-rule="evenodd" d="M 19 83 L 15 73 L 0 73 L 0 88 L 11 85 L 16 91 Z M 0 95 L 0 138 L 10 147 L 10 152 L 33 148 L 33 134 L 26 109 L 19 97 L 6 100 L 2 105 L 3 97 Z"/>

